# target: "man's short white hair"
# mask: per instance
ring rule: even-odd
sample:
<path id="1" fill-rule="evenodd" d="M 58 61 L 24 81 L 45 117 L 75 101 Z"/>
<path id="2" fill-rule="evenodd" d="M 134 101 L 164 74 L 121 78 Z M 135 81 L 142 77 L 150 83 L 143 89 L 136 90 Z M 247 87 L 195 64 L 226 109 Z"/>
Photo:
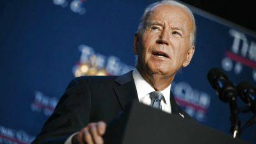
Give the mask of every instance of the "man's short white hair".
<path id="1" fill-rule="evenodd" d="M 189 35 L 190 38 L 190 42 L 192 45 L 195 45 L 195 36 L 196 36 L 196 24 L 195 24 L 195 17 L 193 15 L 193 13 L 191 12 L 191 10 L 189 10 L 189 8 L 187 6 L 185 6 L 184 4 L 178 3 L 177 1 L 172 1 L 172 0 L 163 0 L 163 1 L 157 1 L 156 3 L 152 3 L 150 4 L 145 10 L 143 15 L 141 16 L 140 19 L 140 24 L 138 26 L 138 33 L 141 32 L 141 30 L 143 30 L 145 28 L 145 21 L 147 21 L 150 13 L 152 12 L 152 10 L 154 8 L 156 8 L 156 6 L 159 6 L 160 4 L 168 4 L 170 6 L 177 6 L 179 8 L 182 8 L 182 10 L 185 10 L 189 17 L 191 18 L 192 22 L 193 22 L 193 29 Z"/>

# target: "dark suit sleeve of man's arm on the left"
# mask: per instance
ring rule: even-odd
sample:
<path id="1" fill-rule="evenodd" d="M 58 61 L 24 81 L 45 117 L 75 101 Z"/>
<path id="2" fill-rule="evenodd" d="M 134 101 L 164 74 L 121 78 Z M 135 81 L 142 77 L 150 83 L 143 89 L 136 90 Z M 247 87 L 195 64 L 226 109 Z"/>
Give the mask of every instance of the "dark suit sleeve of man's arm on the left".
<path id="1" fill-rule="evenodd" d="M 32 144 L 65 143 L 90 121 L 91 95 L 84 77 L 73 79 Z"/>

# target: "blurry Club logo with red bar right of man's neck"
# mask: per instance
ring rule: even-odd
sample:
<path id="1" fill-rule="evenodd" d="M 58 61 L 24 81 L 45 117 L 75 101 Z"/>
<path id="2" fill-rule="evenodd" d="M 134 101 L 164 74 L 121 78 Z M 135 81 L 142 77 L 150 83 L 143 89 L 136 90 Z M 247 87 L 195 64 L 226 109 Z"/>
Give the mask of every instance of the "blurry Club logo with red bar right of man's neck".
<path id="1" fill-rule="evenodd" d="M 185 108 L 185 111 L 199 121 L 205 121 L 207 108 L 211 103 L 209 94 L 191 88 L 188 83 L 180 81 L 172 83 L 172 92 L 179 106 Z"/>

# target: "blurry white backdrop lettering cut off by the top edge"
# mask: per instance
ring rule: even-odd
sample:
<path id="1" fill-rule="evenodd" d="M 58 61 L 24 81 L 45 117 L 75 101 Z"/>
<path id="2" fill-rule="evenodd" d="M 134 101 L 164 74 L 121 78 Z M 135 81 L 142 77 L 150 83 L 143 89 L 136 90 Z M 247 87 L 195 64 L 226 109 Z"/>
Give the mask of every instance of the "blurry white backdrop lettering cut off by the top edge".
<path id="1" fill-rule="evenodd" d="M 67 0 L 52 0 L 52 2 L 58 6 L 62 6 L 63 8 L 68 6 Z M 70 2 L 69 8 L 72 12 L 83 15 L 86 12 L 86 9 L 83 6 L 85 2 L 86 0 L 73 0 Z"/>

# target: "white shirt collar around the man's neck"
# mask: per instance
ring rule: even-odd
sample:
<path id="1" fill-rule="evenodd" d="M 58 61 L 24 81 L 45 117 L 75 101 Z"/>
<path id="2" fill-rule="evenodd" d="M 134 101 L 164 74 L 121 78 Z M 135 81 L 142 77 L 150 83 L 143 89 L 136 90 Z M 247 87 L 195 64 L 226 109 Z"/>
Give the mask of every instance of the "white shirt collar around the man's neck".
<path id="1" fill-rule="evenodd" d="M 155 91 L 155 89 L 141 76 L 140 72 L 138 72 L 137 69 L 133 70 L 132 77 L 134 79 L 139 100 L 145 97 L 146 95 L 148 95 L 149 93 Z M 163 93 L 164 95 L 164 99 L 168 103 L 170 101 L 170 91 L 171 91 L 171 84 L 161 91 L 161 93 Z"/>

